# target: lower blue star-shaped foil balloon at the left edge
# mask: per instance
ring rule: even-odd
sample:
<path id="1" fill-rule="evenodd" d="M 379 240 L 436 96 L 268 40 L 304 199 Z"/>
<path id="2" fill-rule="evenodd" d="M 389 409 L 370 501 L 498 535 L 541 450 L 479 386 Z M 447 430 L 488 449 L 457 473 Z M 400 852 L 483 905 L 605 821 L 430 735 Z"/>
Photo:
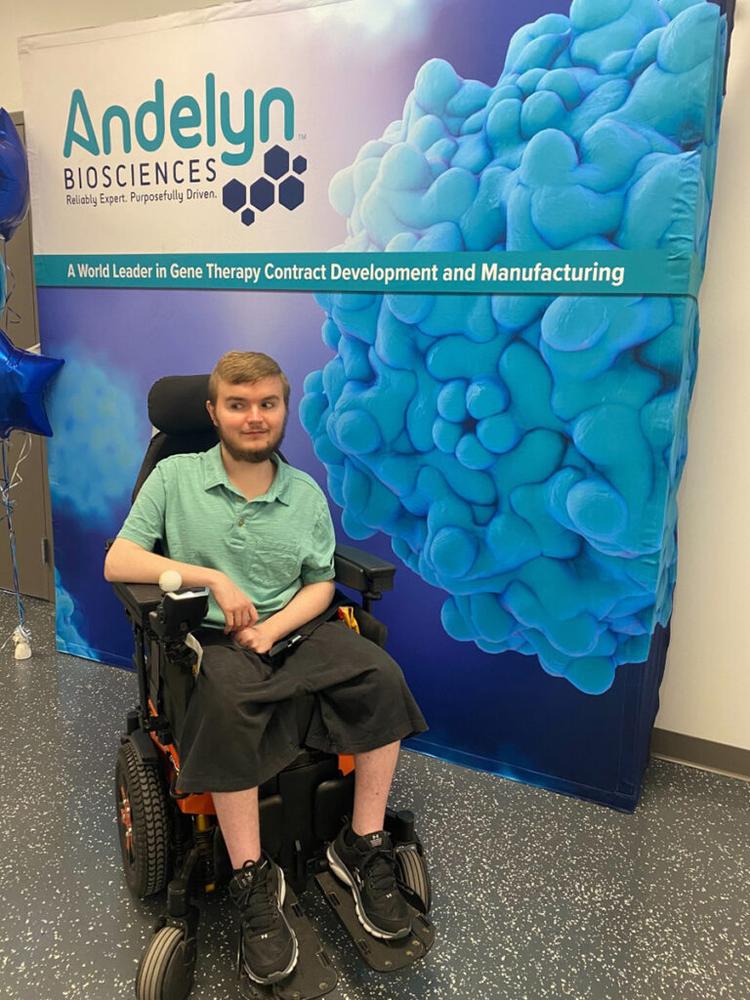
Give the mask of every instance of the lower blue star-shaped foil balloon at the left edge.
<path id="1" fill-rule="evenodd" d="M 20 350 L 0 330 L 0 438 L 14 429 L 52 436 L 44 390 L 62 366 L 59 358 Z"/>

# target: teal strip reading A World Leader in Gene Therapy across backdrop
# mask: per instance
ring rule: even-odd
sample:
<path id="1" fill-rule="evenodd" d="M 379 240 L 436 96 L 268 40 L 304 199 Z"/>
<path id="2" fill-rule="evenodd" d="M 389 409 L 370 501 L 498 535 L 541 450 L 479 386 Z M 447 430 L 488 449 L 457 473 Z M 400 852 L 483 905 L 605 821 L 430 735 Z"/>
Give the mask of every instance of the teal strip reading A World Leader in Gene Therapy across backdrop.
<path id="1" fill-rule="evenodd" d="M 692 295 L 666 250 L 517 253 L 38 254 L 39 286 L 479 295 Z"/>

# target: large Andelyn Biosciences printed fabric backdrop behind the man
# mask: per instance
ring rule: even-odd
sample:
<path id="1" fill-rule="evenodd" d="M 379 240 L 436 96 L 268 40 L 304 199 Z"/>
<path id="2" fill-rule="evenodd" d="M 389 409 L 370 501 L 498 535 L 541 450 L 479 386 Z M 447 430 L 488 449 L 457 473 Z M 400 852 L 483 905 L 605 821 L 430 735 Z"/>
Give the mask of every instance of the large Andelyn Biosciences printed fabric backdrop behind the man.
<path id="1" fill-rule="evenodd" d="M 726 41 L 708 0 L 255 0 L 22 40 L 60 648 L 129 662 L 101 563 L 152 382 L 267 351 L 288 458 L 397 563 L 420 748 L 632 807 Z"/>

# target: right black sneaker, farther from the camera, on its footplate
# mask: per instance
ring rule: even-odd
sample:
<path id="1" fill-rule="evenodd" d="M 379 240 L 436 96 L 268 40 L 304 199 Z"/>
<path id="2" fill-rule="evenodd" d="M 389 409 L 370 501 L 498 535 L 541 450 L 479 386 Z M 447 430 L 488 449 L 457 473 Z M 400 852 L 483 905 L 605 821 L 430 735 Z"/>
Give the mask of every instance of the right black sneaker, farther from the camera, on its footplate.
<path id="1" fill-rule="evenodd" d="M 357 837 L 347 824 L 328 848 L 328 864 L 352 890 L 357 918 L 369 934 L 386 940 L 411 934 L 411 911 L 399 891 L 398 862 L 384 830 Z"/>

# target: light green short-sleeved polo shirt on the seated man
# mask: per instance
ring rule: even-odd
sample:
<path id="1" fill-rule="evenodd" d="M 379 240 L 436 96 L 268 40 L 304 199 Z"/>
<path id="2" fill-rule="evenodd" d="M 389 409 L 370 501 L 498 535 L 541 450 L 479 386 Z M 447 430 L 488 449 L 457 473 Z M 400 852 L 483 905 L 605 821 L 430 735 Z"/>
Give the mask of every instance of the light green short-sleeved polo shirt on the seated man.
<path id="1" fill-rule="evenodd" d="M 271 488 L 248 500 L 229 481 L 219 445 L 164 458 L 118 537 L 147 551 L 161 541 L 171 559 L 226 573 L 265 619 L 306 584 L 334 575 L 335 539 L 323 491 L 300 469 L 275 464 Z M 213 595 L 204 624 L 224 626 Z"/>

